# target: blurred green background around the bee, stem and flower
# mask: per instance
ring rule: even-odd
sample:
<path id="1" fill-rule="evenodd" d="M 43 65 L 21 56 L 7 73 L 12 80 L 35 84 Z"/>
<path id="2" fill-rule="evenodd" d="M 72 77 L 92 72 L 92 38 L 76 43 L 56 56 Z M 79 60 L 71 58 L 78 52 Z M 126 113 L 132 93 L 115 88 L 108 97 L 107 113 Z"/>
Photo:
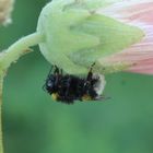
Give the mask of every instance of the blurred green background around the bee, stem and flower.
<path id="1" fill-rule="evenodd" d="M 47 0 L 16 0 L 13 24 L 0 28 L 0 49 L 35 32 Z M 152 153 L 153 76 L 108 75 L 104 103 L 63 105 L 42 90 L 50 64 L 35 51 L 4 81 L 5 153 Z"/>

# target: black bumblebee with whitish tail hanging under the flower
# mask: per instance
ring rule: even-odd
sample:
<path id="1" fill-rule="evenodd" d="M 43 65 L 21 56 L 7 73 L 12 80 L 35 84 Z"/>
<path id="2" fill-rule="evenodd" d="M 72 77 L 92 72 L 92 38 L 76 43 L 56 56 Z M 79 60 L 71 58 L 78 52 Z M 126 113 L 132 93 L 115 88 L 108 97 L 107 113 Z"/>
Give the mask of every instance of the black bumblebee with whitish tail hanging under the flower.
<path id="1" fill-rule="evenodd" d="M 54 66 L 44 84 L 44 90 L 52 96 L 52 99 L 66 104 L 73 104 L 74 101 L 97 101 L 102 98 L 105 82 L 101 80 L 101 75 L 93 74 L 92 68 L 93 66 L 86 78 L 79 78 L 63 74 L 61 69 Z"/>

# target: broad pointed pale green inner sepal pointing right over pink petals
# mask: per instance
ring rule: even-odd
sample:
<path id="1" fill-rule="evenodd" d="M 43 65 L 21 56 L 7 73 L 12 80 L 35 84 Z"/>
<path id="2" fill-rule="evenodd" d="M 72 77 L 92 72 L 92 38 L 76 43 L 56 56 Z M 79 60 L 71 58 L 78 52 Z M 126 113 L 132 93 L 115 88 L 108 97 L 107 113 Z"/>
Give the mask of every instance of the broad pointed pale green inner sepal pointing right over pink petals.
<path id="1" fill-rule="evenodd" d="M 91 15 L 72 30 L 99 38 L 97 46 L 71 52 L 71 60 L 81 66 L 90 66 L 98 59 L 122 51 L 144 36 L 143 31 L 136 26 L 99 14 Z"/>

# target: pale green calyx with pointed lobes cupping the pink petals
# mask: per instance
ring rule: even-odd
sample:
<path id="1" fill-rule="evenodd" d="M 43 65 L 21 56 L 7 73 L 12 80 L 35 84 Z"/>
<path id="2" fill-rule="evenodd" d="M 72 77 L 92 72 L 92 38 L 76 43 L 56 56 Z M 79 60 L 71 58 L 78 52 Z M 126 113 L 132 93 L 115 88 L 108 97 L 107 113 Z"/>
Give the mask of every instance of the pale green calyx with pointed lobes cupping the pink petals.
<path id="1" fill-rule="evenodd" d="M 94 62 L 93 70 L 101 73 L 131 67 L 128 61 L 105 62 L 144 37 L 139 26 L 103 13 L 120 1 L 52 0 L 38 20 L 37 32 L 45 35 L 45 42 L 39 44 L 42 54 L 70 74 L 87 73 Z"/>

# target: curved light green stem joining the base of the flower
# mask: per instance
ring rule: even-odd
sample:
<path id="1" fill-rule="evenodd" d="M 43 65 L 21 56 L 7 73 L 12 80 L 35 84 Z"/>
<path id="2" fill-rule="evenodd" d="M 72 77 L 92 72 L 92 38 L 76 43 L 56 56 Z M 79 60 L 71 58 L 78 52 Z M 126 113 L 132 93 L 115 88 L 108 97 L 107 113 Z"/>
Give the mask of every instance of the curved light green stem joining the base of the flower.
<path id="1" fill-rule="evenodd" d="M 2 141 L 2 118 L 1 118 L 1 107 L 2 107 L 2 85 L 3 78 L 10 64 L 15 62 L 21 56 L 31 51 L 30 47 L 43 43 L 45 36 L 40 33 L 34 33 L 25 36 L 10 46 L 7 50 L 0 54 L 0 153 L 3 153 L 3 141 Z"/>

